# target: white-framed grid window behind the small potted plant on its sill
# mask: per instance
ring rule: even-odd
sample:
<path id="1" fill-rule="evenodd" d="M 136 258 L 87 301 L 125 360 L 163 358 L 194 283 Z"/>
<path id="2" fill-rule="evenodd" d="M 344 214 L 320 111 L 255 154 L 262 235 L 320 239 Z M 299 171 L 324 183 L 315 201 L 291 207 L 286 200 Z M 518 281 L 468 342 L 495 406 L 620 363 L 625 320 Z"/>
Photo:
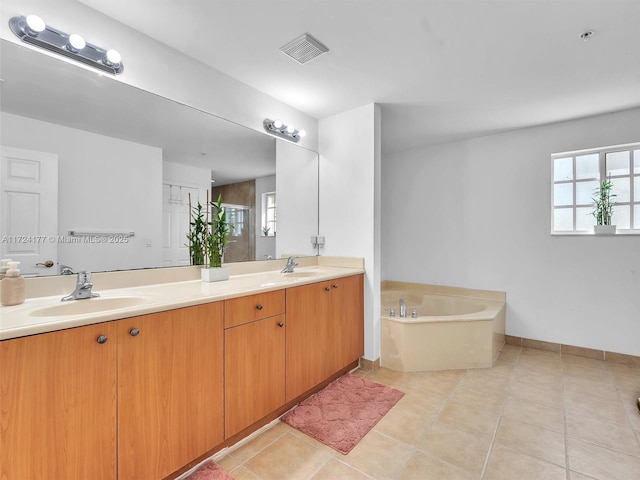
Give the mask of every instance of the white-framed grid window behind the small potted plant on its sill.
<path id="1" fill-rule="evenodd" d="M 593 196 L 611 181 L 615 195 L 612 223 L 620 233 L 640 234 L 640 143 L 551 156 L 552 233 L 590 233 Z"/>

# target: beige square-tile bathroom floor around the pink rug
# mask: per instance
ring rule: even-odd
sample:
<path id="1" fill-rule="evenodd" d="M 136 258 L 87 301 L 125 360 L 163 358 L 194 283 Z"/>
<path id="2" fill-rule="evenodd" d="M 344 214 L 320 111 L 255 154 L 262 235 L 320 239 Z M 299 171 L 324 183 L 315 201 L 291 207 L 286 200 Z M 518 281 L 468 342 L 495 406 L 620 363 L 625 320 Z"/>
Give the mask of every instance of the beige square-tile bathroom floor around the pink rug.
<path id="1" fill-rule="evenodd" d="M 491 369 L 357 372 L 405 396 L 348 454 L 278 423 L 237 480 L 640 479 L 640 366 L 506 345 Z"/>

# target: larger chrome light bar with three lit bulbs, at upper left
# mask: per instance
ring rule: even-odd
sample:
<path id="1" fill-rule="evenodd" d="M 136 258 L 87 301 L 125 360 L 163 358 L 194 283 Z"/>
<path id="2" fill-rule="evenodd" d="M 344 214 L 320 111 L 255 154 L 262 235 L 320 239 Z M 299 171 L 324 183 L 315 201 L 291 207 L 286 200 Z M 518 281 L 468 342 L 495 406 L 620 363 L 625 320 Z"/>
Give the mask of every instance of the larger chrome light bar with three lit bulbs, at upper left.
<path id="1" fill-rule="evenodd" d="M 122 57 L 115 50 L 92 45 L 77 33 L 67 34 L 47 25 L 37 15 L 13 17 L 9 28 L 23 42 L 72 58 L 85 65 L 118 75 L 123 72 Z"/>

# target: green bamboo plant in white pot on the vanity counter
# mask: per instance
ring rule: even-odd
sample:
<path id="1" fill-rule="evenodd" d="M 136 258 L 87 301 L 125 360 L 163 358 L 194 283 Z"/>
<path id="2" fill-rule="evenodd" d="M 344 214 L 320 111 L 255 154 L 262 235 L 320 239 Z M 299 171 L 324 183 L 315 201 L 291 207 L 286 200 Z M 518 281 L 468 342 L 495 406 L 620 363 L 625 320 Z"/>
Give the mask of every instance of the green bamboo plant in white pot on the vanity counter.
<path id="1" fill-rule="evenodd" d="M 217 282 L 229 278 L 229 269 L 222 266 L 222 258 L 227 247 L 227 236 L 233 226 L 227 222 L 227 213 L 222 206 L 222 195 L 217 202 L 209 202 L 205 207 L 200 202 L 191 207 L 189 239 L 189 254 L 192 265 L 202 265 L 201 277 L 203 282 Z"/>

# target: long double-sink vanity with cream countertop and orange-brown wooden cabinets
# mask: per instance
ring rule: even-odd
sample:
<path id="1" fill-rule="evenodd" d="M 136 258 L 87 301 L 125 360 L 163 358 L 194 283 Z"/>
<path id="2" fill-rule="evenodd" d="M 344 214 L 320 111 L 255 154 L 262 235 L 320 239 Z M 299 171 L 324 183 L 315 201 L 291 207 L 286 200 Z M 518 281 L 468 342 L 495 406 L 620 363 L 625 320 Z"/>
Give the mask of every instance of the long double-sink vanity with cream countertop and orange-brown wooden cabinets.
<path id="1" fill-rule="evenodd" d="M 175 478 L 354 368 L 361 260 L 256 263 L 2 307 L 0 478 Z"/>

